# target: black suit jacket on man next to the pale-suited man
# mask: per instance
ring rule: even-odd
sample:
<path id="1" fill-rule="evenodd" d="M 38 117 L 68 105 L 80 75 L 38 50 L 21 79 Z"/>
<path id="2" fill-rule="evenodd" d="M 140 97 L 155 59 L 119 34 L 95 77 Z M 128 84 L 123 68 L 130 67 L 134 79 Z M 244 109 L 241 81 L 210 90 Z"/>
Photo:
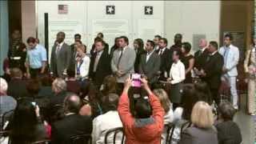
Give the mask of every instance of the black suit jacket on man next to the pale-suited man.
<path id="1" fill-rule="evenodd" d="M 223 57 L 217 52 L 214 55 L 209 55 L 207 59 L 206 65 L 202 67 L 205 70 L 206 77 L 203 77 L 202 80 L 207 82 L 210 89 L 218 89 L 221 85 Z"/>

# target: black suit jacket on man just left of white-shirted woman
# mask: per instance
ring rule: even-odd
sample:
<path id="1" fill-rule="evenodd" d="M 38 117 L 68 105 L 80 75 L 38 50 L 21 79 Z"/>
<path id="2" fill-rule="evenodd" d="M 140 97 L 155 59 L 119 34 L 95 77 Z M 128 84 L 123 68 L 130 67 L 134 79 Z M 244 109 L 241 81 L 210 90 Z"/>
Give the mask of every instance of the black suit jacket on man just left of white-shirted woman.
<path id="1" fill-rule="evenodd" d="M 156 50 L 156 53 L 159 54 L 159 50 Z M 167 73 L 167 76 L 170 77 L 170 67 L 172 64 L 172 52 L 171 50 L 167 49 L 163 51 L 163 54 L 160 55 L 161 58 L 161 65 L 160 65 L 160 79 L 164 79 L 165 72 Z"/>

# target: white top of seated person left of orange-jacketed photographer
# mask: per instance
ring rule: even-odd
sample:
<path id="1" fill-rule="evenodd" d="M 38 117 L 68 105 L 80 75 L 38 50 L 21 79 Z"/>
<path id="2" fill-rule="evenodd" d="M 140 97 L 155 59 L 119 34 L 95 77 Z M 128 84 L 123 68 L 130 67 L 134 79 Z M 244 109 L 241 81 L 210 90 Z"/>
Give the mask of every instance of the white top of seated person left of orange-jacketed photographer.
<path id="1" fill-rule="evenodd" d="M 93 143 L 104 144 L 106 131 L 117 127 L 122 127 L 122 122 L 116 110 L 108 111 L 106 114 L 94 118 L 92 132 Z M 121 135 L 117 134 L 116 143 L 120 143 L 122 140 L 119 136 Z M 114 134 L 110 134 L 108 136 L 108 142 L 113 142 L 113 137 Z"/>

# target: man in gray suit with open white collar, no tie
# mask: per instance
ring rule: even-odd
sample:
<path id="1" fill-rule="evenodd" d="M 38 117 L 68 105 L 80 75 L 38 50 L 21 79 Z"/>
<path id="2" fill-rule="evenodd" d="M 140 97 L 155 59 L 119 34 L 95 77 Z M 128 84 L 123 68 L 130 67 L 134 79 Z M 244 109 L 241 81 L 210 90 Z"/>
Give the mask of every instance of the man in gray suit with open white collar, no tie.
<path id="1" fill-rule="evenodd" d="M 158 81 L 158 71 L 160 70 L 161 59 L 154 53 L 154 42 L 146 42 L 146 54 L 142 54 L 139 64 L 139 73 L 146 76 L 150 84 Z"/>

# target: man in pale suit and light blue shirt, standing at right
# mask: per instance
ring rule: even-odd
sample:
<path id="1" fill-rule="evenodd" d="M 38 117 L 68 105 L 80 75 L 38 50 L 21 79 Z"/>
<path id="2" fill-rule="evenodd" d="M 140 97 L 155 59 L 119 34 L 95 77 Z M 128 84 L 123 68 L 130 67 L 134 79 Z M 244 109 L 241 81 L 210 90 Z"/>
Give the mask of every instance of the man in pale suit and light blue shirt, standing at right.
<path id="1" fill-rule="evenodd" d="M 233 106 L 238 110 L 238 92 L 236 88 L 237 76 L 238 76 L 238 62 L 239 62 L 239 50 L 238 47 L 231 44 L 233 37 L 231 34 L 224 36 L 224 44 L 219 50 L 224 58 L 224 66 L 222 69 L 222 80 L 230 85 L 231 100 Z"/>

